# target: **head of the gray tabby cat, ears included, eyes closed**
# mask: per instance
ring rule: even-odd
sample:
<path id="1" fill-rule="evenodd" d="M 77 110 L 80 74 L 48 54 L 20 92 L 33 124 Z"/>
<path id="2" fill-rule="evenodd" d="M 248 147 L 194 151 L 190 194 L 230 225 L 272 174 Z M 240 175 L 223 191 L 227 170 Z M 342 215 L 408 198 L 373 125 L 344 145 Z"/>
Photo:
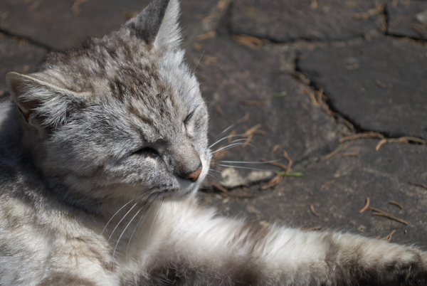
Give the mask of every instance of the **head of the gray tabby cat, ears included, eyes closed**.
<path id="1" fill-rule="evenodd" d="M 26 147 L 79 196 L 178 198 L 209 170 L 208 115 L 179 48 L 177 0 L 119 30 L 53 52 L 38 73 L 9 73 Z"/>

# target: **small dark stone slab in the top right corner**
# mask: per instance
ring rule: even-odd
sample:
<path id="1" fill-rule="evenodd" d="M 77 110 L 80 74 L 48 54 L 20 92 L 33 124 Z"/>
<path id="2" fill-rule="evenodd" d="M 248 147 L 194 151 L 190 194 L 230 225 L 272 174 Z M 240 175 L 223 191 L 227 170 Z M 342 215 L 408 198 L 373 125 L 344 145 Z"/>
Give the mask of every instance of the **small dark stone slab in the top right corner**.
<path id="1" fill-rule="evenodd" d="M 418 40 L 427 40 L 427 1 L 398 2 L 386 6 L 389 16 L 387 33 Z"/>

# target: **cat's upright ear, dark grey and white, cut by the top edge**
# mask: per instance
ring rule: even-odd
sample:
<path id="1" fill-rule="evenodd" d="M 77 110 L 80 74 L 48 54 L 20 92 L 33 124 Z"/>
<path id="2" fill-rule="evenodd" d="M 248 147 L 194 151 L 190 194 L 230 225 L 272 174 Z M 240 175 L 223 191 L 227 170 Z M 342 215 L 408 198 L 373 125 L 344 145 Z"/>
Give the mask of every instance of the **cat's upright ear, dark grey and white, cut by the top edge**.
<path id="1" fill-rule="evenodd" d="M 153 48 L 173 49 L 181 43 L 178 18 L 178 0 L 156 0 L 125 26 Z"/>

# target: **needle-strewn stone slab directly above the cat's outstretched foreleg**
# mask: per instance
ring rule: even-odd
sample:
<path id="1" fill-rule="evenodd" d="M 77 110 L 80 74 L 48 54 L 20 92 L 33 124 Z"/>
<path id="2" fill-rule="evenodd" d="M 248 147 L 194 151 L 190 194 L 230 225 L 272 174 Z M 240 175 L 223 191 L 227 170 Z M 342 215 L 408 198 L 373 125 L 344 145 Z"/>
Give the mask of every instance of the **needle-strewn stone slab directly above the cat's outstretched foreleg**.
<path id="1" fill-rule="evenodd" d="M 427 185 L 427 147 L 390 143 L 376 152 L 378 142 L 378 139 L 359 139 L 347 143 L 347 149 L 330 159 L 321 159 L 305 168 L 295 166 L 305 176 L 286 177 L 273 190 L 259 191 L 259 186 L 253 186 L 249 191 L 239 191 L 239 194 L 256 194 L 255 198 L 235 201 L 218 194 L 202 194 L 202 198 L 228 216 L 246 216 L 263 223 L 286 223 L 297 228 L 339 228 L 381 238 L 396 230 L 392 242 L 416 242 L 426 247 L 427 189 L 421 185 Z M 371 207 L 391 213 L 408 225 L 373 216 L 372 211 L 359 213 L 367 197 Z M 389 201 L 400 203 L 403 209 Z"/>

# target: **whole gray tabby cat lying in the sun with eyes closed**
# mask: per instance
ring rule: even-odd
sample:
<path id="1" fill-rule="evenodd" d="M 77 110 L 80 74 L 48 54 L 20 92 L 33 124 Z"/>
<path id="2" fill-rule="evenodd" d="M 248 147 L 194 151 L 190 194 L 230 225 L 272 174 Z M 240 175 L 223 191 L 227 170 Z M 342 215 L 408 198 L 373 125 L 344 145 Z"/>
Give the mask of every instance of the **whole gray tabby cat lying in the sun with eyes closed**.
<path id="1" fill-rule="evenodd" d="M 104 38 L 9 73 L 0 285 L 427 285 L 427 253 L 218 217 L 196 190 L 208 115 L 157 0 Z"/>

